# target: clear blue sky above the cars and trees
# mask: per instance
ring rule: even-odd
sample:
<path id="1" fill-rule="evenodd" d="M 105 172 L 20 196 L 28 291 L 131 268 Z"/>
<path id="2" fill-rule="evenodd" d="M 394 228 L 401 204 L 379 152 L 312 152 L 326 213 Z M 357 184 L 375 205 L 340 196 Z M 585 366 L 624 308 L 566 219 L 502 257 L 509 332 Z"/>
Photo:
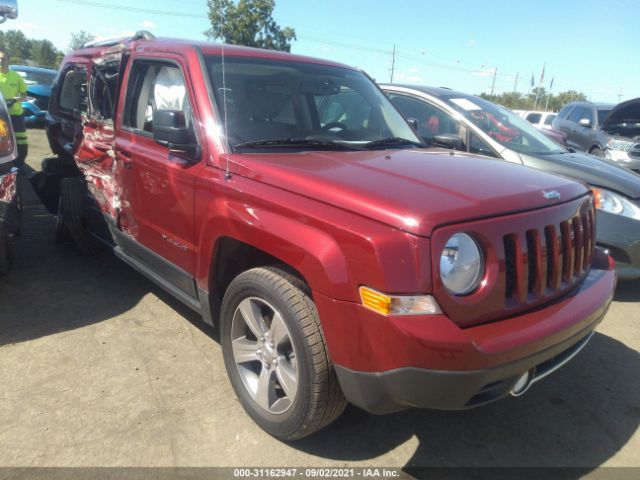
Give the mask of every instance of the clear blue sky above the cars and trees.
<path id="1" fill-rule="evenodd" d="M 72 32 L 114 37 L 147 29 L 203 40 L 206 0 L 18 0 L 18 28 L 66 49 Z M 107 5 L 108 8 L 97 6 Z M 110 7 L 109 7 L 110 6 Z M 122 7 L 126 8 L 122 8 Z M 135 9 L 176 12 L 192 18 Z M 532 75 L 553 91 L 593 101 L 640 97 L 640 0 L 276 0 L 275 20 L 295 28 L 292 52 L 327 58 L 388 81 L 526 92 Z"/>

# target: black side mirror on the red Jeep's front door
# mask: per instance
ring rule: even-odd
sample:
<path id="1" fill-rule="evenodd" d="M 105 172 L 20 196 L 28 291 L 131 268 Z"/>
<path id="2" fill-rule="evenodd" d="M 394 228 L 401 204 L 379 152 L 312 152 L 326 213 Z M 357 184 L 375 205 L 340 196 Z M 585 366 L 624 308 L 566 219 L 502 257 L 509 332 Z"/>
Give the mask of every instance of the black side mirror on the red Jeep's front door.
<path id="1" fill-rule="evenodd" d="M 182 110 L 156 110 L 153 112 L 153 139 L 169 148 L 169 153 L 185 160 L 197 162 L 202 153 L 194 140 Z"/>

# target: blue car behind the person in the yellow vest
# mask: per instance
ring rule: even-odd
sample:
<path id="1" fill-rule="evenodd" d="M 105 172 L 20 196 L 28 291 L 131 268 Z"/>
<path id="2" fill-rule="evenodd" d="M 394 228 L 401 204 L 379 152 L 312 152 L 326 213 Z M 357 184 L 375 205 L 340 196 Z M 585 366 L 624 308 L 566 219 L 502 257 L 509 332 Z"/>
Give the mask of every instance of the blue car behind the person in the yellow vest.
<path id="1" fill-rule="evenodd" d="M 27 128 L 44 127 L 44 119 L 49 107 L 51 86 L 58 76 L 57 70 L 28 65 L 10 65 L 27 84 L 27 100 L 22 102 Z"/>

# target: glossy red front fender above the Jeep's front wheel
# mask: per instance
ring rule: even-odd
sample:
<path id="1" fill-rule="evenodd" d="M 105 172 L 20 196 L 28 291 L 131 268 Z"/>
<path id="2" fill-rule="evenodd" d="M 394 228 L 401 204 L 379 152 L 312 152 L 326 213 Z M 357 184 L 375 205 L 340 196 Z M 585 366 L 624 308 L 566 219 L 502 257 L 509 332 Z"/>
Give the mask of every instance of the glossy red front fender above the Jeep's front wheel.
<path id="1" fill-rule="evenodd" d="M 387 292 L 430 291 L 428 240 L 313 199 L 208 171 L 196 187 L 198 286 L 210 290 L 224 237 L 293 267 L 328 297 L 359 301 L 366 284 Z M 208 178 L 207 178 L 208 177 Z"/>

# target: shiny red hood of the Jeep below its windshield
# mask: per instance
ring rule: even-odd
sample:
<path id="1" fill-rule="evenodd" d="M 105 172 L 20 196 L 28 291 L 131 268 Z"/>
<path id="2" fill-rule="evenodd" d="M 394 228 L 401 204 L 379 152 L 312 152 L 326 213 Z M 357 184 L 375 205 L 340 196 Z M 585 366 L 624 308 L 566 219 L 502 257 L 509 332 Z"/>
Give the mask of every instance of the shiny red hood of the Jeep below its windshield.
<path id="1" fill-rule="evenodd" d="M 232 172 L 429 236 L 443 224 L 546 207 L 584 185 L 539 170 L 449 150 L 256 153 L 229 156 Z M 546 200 L 555 190 L 560 200 Z"/>

